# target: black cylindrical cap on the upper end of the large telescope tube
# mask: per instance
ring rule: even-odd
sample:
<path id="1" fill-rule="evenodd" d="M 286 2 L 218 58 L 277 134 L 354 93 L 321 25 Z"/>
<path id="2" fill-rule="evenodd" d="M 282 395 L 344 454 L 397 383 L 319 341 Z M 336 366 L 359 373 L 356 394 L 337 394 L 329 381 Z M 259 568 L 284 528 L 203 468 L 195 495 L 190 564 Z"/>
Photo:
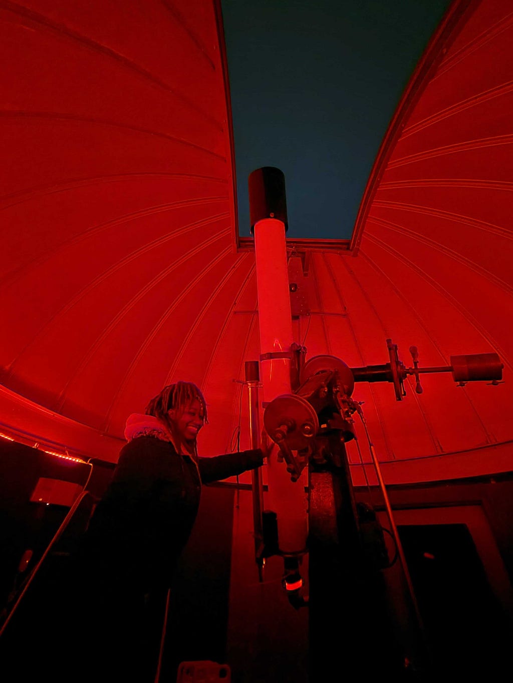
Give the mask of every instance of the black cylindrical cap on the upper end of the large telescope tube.
<path id="1" fill-rule="evenodd" d="M 275 218 L 289 229 L 287 222 L 287 199 L 285 197 L 285 176 L 274 166 L 263 166 L 252 171 L 248 178 L 250 197 L 251 234 L 254 224 L 265 218 Z"/>

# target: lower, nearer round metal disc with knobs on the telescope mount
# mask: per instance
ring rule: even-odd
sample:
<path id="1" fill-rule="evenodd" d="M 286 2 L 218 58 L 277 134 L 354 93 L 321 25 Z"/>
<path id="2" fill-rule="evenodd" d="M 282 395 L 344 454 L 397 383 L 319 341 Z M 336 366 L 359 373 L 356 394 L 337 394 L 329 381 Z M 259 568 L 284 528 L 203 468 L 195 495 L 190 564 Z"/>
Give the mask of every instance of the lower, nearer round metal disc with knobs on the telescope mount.
<path id="1" fill-rule="evenodd" d="M 276 396 L 263 414 L 265 431 L 278 445 L 280 456 L 285 460 L 291 480 L 297 482 L 307 464 L 307 456 L 295 455 L 293 451 L 311 449 L 313 437 L 319 431 L 319 419 L 310 403 L 295 394 Z"/>

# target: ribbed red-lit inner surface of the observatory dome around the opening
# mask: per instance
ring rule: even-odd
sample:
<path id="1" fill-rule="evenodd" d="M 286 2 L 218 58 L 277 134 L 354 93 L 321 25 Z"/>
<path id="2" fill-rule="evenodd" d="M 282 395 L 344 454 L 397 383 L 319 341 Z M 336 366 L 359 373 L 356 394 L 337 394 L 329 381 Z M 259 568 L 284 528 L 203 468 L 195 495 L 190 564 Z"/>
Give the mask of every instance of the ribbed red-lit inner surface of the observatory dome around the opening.
<path id="1" fill-rule="evenodd" d="M 307 359 L 386 363 L 392 339 L 407 367 L 411 345 L 420 367 L 490 352 L 504 365 L 498 386 L 424 374 L 417 394 L 409 377 L 402 401 L 389 383 L 356 385 L 389 483 L 512 468 L 510 10 L 451 5 L 352 240 L 287 240 Z M 252 239 L 237 235 L 217 3 L 0 12 L 0 431 L 115 462 L 127 415 L 187 379 L 209 404 L 200 450 L 248 447 L 257 281 Z M 347 452 L 362 484 L 371 460 L 356 430 Z"/>

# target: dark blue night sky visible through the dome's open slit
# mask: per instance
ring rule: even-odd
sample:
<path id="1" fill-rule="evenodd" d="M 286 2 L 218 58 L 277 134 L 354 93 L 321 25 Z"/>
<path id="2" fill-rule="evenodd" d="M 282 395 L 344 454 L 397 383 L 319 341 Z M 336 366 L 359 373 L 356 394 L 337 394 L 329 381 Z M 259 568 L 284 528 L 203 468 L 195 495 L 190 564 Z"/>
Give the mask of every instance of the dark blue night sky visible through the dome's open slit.
<path id="1" fill-rule="evenodd" d="M 239 234 L 285 173 L 288 237 L 350 238 L 381 141 L 449 0 L 222 0 Z"/>

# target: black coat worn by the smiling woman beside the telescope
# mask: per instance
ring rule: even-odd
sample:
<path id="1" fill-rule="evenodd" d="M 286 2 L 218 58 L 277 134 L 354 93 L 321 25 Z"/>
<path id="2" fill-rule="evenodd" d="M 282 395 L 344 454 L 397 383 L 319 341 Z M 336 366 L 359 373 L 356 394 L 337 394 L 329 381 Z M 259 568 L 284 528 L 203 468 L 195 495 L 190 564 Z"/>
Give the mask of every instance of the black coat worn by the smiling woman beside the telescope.
<path id="1" fill-rule="evenodd" d="M 144 592 L 169 587 L 192 531 L 202 484 L 263 464 L 260 449 L 213 458 L 179 455 L 170 441 L 139 436 L 125 445 L 96 506 L 82 548 L 84 572 L 129 581 Z"/>

